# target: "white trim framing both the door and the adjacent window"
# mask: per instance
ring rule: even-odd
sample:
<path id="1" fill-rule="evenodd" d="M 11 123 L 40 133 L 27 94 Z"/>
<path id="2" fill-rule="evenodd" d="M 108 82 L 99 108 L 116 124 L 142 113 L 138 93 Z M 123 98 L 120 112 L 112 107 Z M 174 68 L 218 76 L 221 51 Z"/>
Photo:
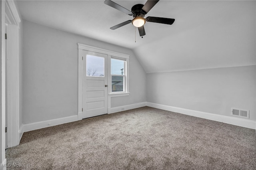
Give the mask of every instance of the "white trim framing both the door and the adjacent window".
<path id="1" fill-rule="evenodd" d="M 129 57 L 130 55 L 94 47 L 82 43 L 78 43 L 78 120 L 82 120 L 82 80 L 83 80 L 83 61 L 82 50 L 93 51 L 96 53 L 102 53 L 108 55 L 108 113 L 111 113 L 111 97 L 121 97 L 130 95 L 129 92 Z M 126 92 L 111 92 L 111 57 L 125 59 L 126 60 Z"/>

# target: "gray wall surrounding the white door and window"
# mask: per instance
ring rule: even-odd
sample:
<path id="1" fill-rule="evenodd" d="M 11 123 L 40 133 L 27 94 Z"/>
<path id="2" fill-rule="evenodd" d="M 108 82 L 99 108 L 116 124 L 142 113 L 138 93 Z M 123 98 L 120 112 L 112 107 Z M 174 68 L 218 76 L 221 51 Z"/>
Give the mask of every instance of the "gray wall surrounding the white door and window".
<path id="1" fill-rule="evenodd" d="M 130 49 L 23 20 L 23 124 L 78 114 L 78 45 L 130 54 L 130 95 L 112 107 L 146 101 L 146 73 Z"/>

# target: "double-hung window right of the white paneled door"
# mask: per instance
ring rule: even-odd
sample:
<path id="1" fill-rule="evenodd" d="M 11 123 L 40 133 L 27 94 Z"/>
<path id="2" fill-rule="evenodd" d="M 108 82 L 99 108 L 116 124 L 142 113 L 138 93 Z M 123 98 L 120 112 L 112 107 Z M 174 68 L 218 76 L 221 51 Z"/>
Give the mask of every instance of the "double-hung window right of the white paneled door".
<path id="1" fill-rule="evenodd" d="M 127 59 L 111 57 L 111 93 L 128 93 Z"/>

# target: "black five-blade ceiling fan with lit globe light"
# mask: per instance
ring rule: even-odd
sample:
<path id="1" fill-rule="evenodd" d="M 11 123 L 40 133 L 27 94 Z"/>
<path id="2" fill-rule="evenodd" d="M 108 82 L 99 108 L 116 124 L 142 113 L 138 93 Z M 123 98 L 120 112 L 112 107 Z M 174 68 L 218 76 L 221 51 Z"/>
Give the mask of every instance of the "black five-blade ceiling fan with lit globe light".
<path id="1" fill-rule="evenodd" d="M 126 8 L 116 4 L 115 2 L 111 0 L 105 0 L 104 4 L 111 6 L 121 12 L 124 12 L 130 16 L 133 16 L 133 20 L 128 20 L 125 22 L 122 22 L 121 24 L 118 24 L 116 26 L 111 27 L 111 30 L 116 30 L 117 28 L 120 28 L 122 26 L 125 26 L 126 24 L 132 23 L 132 25 L 138 27 L 140 36 L 146 35 L 144 24 L 146 22 L 156 22 L 160 24 L 169 24 L 172 25 L 175 21 L 175 19 L 172 18 L 160 18 L 160 17 L 153 17 L 148 16 L 146 19 L 144 16 L 153 8 L 153 6 L 158 2 L 159 0 L 148 0 L 146 4 L 136 4 L 132 7 L 131 11 L 127 10 Z"/>

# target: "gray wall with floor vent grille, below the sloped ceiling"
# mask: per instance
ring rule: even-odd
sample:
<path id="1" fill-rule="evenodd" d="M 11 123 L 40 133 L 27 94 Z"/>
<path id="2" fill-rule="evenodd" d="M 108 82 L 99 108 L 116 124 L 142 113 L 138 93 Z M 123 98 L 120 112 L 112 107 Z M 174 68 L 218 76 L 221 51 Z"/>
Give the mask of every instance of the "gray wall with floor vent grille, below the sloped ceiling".
<path id="1" fill-rule="evenodd" d="M 230 108 L 256 113 L 256 66 L 147 73 L 147 101 L 230 116 Z"/>

